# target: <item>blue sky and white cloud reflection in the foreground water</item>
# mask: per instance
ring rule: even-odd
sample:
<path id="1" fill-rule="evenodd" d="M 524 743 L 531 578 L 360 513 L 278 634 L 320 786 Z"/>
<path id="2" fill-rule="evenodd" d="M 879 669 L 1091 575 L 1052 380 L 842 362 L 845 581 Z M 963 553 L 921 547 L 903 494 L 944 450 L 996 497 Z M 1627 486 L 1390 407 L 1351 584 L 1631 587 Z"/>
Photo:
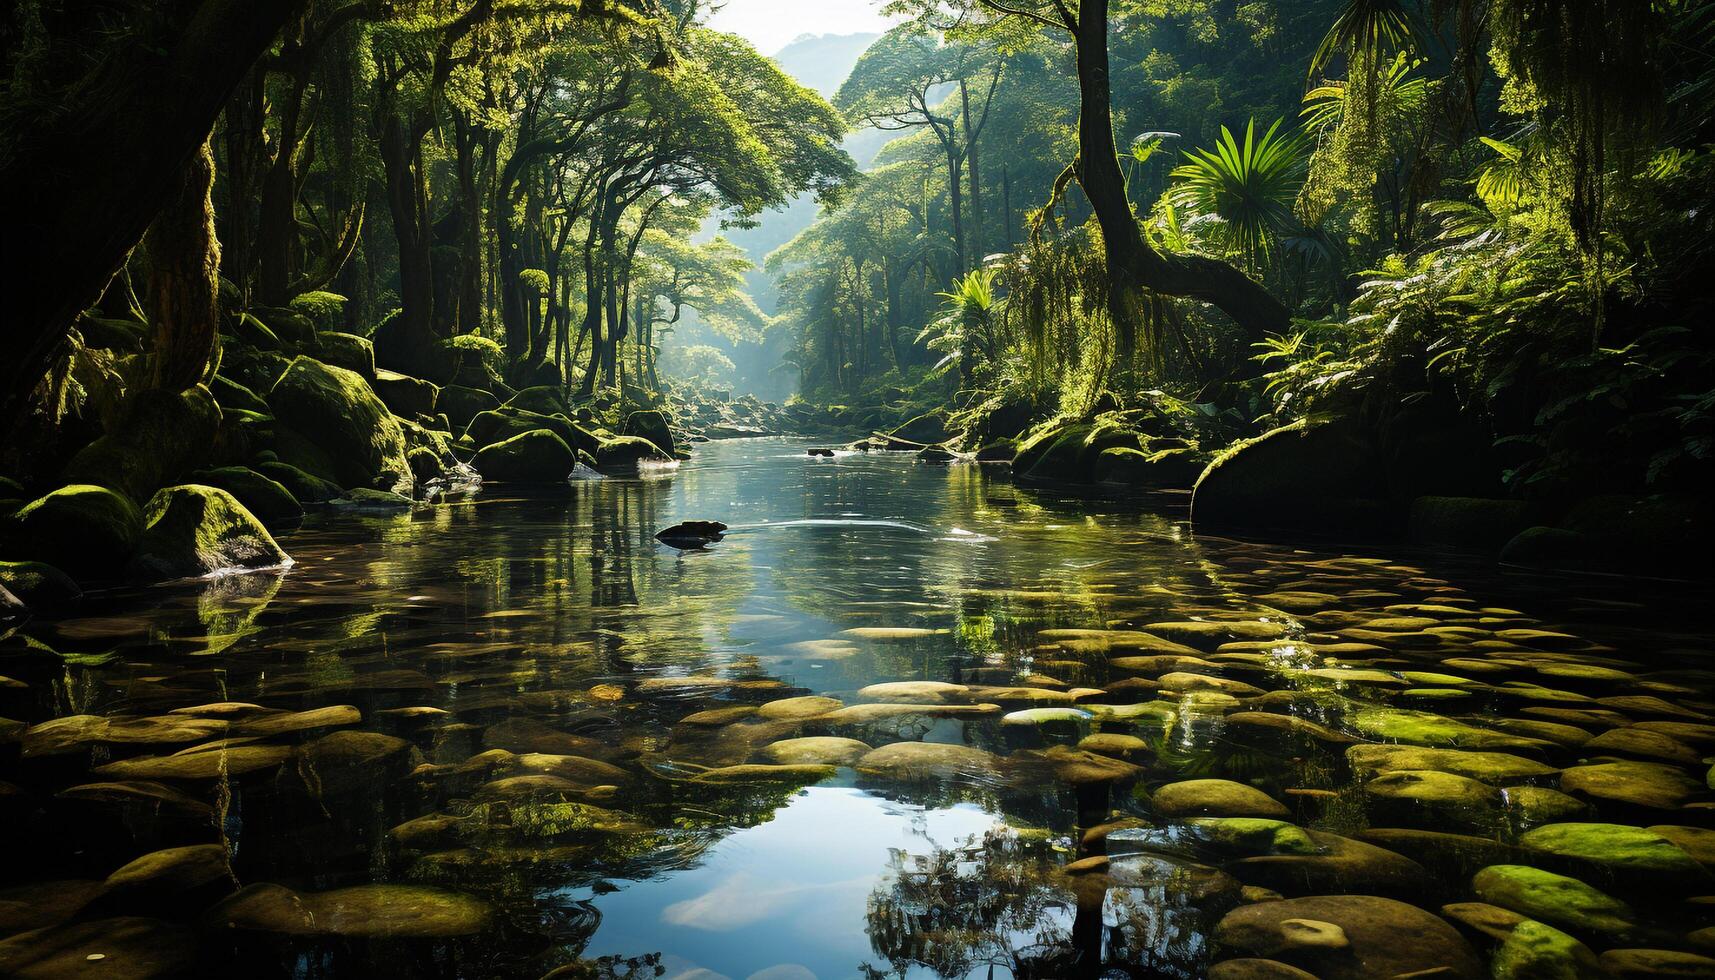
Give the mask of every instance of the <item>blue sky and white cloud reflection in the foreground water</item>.
<path id="1" fill-rule="evenodd" d="M 888 848 L 954 846 L 995 824 L 972 805 L 923 810 L 811 788 L 773 820 L 724 839 L 700 867 L 599 898 L 602 927 L 585 956 L 660 951 L 665 977 L 683 980 L 833 980 L 859 975 L 864 961 L 885 968 L 864 934 L 864 906 Z"/>

